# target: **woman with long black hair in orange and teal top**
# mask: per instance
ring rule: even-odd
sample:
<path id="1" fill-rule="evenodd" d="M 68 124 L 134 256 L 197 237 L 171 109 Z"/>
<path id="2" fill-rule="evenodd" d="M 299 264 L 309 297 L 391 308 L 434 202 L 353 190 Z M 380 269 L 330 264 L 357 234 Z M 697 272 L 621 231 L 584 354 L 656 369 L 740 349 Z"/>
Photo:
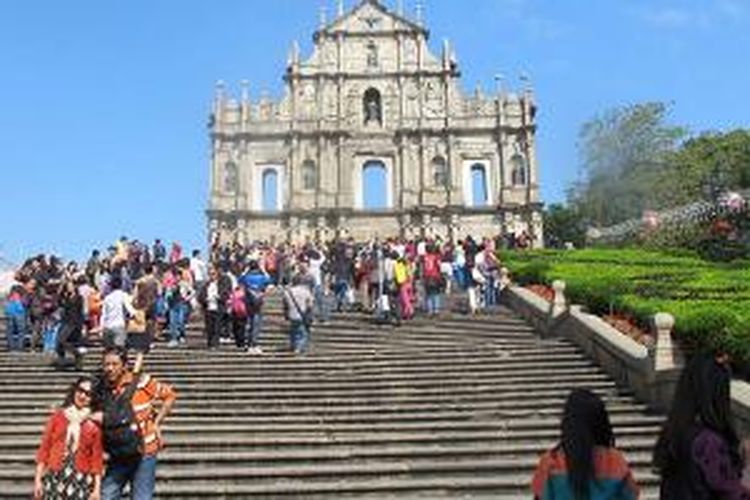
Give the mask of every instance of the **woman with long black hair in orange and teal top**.
<path id="1" fill-rule="evenodd" d="M 542 455 L 531 489 L 537 500 L 633 500 L 639 495 L 602 400 L 574 389 L 565 402 L 560 442 Z"/>

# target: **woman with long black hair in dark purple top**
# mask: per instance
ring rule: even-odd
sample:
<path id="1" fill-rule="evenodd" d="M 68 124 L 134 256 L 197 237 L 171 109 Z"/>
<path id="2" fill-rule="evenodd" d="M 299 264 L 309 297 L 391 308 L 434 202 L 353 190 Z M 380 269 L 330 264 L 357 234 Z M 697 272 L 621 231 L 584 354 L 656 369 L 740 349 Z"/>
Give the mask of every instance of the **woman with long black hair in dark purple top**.
<path id="1" fill-rule="evenodd" d="M 662 500 L 750 500 L 732 426 L 730 381 L 727 366 L 710 354 L 696 355 L 683 370 L 654 448 Z"/>

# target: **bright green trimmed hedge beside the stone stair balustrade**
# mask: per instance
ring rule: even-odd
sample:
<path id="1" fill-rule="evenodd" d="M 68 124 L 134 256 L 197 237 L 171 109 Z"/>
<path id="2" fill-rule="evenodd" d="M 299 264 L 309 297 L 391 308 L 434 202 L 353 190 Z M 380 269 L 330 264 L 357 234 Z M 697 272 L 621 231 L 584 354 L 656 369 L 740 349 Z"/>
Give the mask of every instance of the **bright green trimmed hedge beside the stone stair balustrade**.
<path id="1" fill-rule="evenodd" d="M 500 259 L 520 284 L 565 281 L 569 300 L 594 314 L 631 314 L 649 326 L 655 313 L 671 313 L 679 338 L 726 350 L 750 366 L 747 261 L 720 264 L 686 252 L 641 249 L 504 251 Z"/>

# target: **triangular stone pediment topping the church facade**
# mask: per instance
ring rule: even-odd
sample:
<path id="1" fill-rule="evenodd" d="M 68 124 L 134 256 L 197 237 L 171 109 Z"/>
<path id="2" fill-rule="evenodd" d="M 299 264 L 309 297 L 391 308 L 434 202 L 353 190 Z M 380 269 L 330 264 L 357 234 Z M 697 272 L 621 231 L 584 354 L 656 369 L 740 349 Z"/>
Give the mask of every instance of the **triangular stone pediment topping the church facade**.
<path id="1" fill-rule="evenodd" d="M 336 19 L 322 31 L 345 32 L 350 34 L 392 33 L 394 31 L 427 31 L 417 23 L 391 12 L 378 0 L 363 0 L 354 9 Z"/>

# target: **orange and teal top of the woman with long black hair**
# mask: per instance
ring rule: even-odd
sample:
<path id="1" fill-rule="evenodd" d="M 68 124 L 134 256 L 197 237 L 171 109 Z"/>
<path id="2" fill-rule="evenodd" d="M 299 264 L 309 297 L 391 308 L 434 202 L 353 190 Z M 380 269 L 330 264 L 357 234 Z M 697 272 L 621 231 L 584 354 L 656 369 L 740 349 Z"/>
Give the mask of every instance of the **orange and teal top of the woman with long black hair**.
<path id="1" fill-rule="evenodd" d="M 534 472 L 531 490 L 539 500 L 573 500 L 568 465 L 561 448 L 547 451 Z M 594 448 L 594 479 L 589 483 L 591 500 L 635 500 L 638 486 L 625 457 L 615 448 Z"/>

